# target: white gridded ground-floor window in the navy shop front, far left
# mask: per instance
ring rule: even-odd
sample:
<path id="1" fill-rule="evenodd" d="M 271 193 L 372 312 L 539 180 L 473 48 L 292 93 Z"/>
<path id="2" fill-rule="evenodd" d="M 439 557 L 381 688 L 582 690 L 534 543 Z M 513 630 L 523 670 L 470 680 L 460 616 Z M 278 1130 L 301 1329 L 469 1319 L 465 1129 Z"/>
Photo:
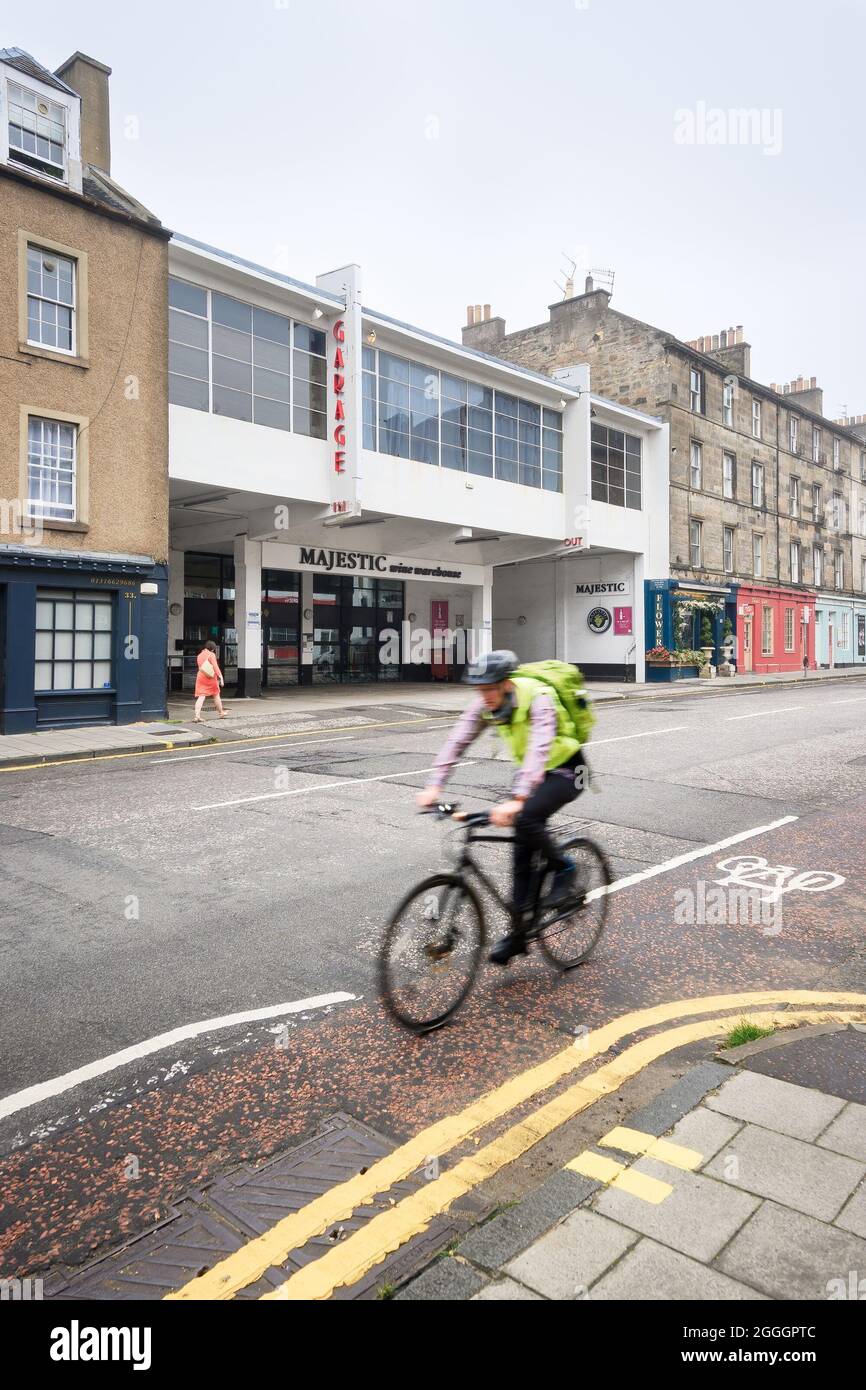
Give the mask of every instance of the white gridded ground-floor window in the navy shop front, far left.
<path id="1" fill-rule="evenodd" d="M 36 691 L 111 688 L 113 609 L 108 594 L 36 591 Z"/>

